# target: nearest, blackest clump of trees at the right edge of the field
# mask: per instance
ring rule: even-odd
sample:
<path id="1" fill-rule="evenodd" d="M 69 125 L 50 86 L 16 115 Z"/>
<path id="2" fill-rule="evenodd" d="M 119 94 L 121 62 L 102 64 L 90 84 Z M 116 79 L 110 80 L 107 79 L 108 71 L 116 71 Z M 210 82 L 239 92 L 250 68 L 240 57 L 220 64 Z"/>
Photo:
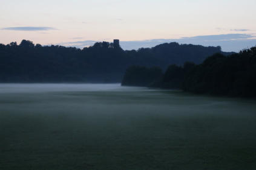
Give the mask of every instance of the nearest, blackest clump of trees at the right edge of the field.
<path id="1" fill-rule="evenodd" d="M 255 47 L 226 57 L 215 54 L 186 75 L 189 92 L 229 96 L 256 96 Z"/>

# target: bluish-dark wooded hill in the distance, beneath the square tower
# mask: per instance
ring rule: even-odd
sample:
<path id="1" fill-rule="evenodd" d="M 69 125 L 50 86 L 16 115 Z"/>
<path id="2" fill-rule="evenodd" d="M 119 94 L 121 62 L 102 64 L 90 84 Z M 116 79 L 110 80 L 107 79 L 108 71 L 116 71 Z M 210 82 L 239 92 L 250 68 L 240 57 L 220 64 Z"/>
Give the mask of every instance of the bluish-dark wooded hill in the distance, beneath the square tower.
<path id="1" fill-rule="evenodd" d="M 185 61 L 202 63 L 222 52 L 220 46 L 164 43 L 153 48 L 124 51 L 113 43 L 100 42 L 84 49 L 34 45 L 22 40 L 17 45 L 0 44 L 0 82 L 120 82 L 126 68 L 183 65 Z"/>

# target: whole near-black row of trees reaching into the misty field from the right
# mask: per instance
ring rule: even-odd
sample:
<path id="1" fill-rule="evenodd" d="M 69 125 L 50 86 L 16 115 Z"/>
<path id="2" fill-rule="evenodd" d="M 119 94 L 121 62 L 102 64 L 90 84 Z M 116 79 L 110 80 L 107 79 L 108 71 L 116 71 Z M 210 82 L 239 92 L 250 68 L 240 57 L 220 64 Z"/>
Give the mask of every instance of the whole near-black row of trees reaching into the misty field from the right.
<path id="1" fill-rule="evenodd" d="M 211 95 L 256 96 L 256 47 L 228 56 L 217 53 L 197 65 L 192 62 L 185 62 L 183 66 L 170 65 L 163 74 L 159 74 L 160 68 L 154 68 L 157 74 L 154 78 L 149 76 L 151 70 L 143 66 L 128 68 L 122 84 L 134 86 L 134 81 L 145 80 L 140 84 L 148 87 Z"/>

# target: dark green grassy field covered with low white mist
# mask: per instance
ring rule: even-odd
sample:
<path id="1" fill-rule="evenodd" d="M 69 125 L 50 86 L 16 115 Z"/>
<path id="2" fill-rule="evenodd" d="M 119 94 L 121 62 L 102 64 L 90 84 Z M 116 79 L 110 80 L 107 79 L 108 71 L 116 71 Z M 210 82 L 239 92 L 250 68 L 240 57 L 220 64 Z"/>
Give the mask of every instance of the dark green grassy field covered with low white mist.
<path id="1" fill-rule="evenodd" d="M 0 84 L 0 169 L 256 169 L 256 101 Z"/>

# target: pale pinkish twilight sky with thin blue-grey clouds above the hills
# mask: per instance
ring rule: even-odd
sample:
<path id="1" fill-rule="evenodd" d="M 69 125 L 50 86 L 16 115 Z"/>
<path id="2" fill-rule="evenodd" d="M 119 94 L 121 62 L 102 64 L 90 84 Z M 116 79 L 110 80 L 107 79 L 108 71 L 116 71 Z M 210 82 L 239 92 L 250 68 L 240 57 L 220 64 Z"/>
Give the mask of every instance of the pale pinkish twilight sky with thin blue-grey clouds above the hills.
<path id="1" fill-rule="evenodd" d="M 0 43 L 84 46 L 120 39 L 124 49 L 164 42 L 256 45 L 255 0 L 1 0 Z"/>

